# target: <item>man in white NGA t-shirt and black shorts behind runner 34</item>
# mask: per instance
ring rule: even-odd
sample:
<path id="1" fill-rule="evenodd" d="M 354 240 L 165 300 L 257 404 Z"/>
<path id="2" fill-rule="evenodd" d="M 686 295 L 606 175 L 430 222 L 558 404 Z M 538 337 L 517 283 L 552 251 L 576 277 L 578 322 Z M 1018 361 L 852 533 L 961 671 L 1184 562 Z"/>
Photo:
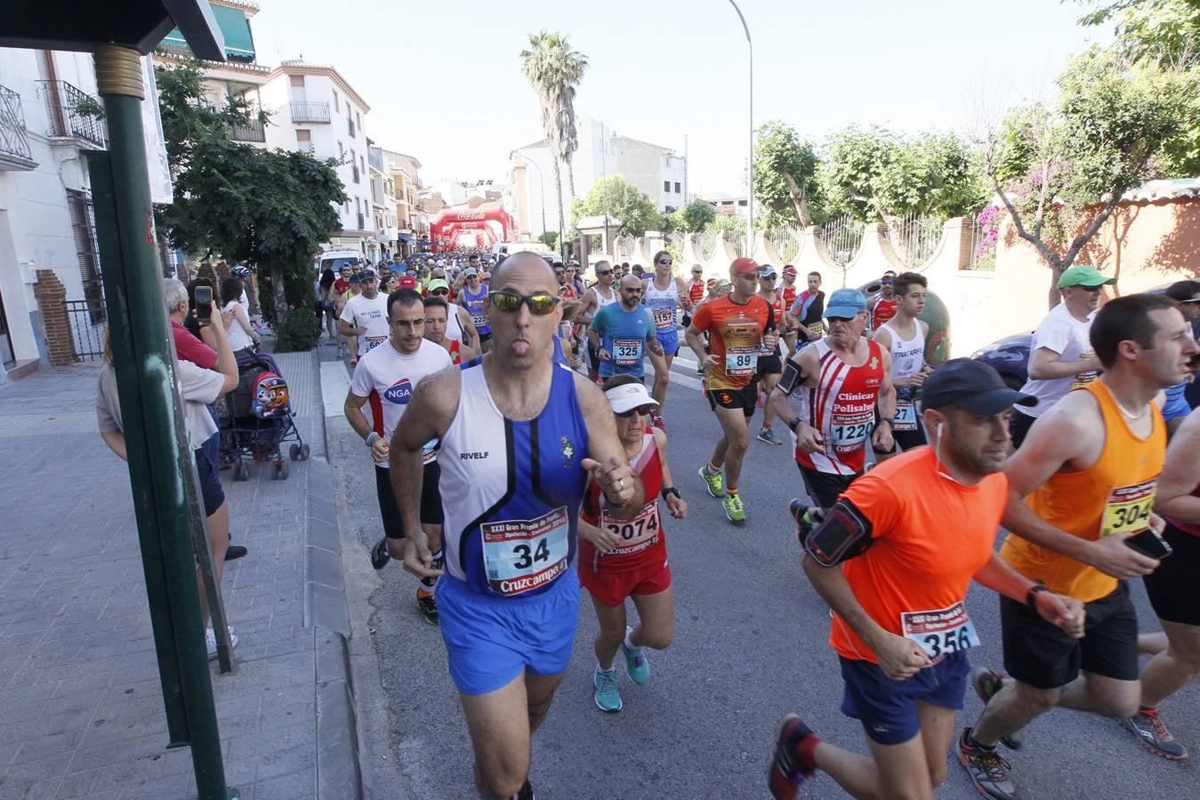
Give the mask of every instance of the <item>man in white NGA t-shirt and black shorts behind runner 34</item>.
<path id="1" fill-rule="evenodd" d="M 413 289 L 398 289 L 385 299 L 386 324 L 391 330 L 383 347 L 365 353 L 354 369 L 350 390 L 346 395 L 346 420 L 362 437 L 374 462 L 376 494 L 383 518 L 384 539 L 371 551 L 371 563 L 383 569 L 389 555 L 403 558 L 404 525 L 392 492 L 388 469 L 388 443 L 391 432 L 408 408 L 413 390 L 422 379 L 451 366 L 450 355 L 438 344 L 425 338 L 425 302 Z M 367 421 L 362 407 L 371 399 Z M 442 557 L 442 497 L 438 494 L 437 440 L 425 451 L 425 475 L 421 493 L 421 528 L 430 537 L 437 558 Z M 438 622 L 438 607 L 433 600 L 434 579 L 422 579 L 416 590 L 416 606 L 425 621 Z"/>

